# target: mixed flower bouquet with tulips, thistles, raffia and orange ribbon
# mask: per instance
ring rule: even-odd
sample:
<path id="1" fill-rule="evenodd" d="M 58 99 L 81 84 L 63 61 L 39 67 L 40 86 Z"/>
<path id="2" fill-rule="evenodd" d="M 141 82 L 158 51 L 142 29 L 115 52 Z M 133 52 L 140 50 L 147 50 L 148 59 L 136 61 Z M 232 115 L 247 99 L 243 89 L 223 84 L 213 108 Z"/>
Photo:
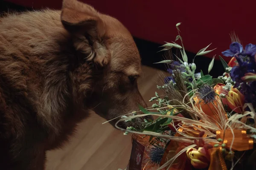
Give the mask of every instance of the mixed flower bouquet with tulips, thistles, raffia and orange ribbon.
<path id="1" fill-rule="evenodd" d="M 180 23 L 175 42 L 166 42 L 165 63 L 169 77 L 163 77 L 164 92 L 151 98 L 151 108 L 139 106 L 140 112 L 122 116 L 120 121 L 134 121 L 145 115 L 138 127 L 127 127 L 124 134 L 134 133 L 131 159 L 127 170 L 256 170 L 256 45 L 243 48 L 232 35 L 230 49 L 222 55 L 231 57 L 226 63 L 220 57 L 225 73 L 212 78 L 196 73 L 194 62 L 188 57 L 180 36 Z M 180 44 L 177 43 L 180 41 Z M 196 54 L 212 52 L 209 45 Z M 178 53 L 172 54 L 171 48 Z M 196 57 L 195 56 L 195 57 Z M 194 59 L 195 59 L 194 57 Z M 194 61 L 193 59 L 193 61 Z M 142 127 L 142 128 L 141 128 Z"/>

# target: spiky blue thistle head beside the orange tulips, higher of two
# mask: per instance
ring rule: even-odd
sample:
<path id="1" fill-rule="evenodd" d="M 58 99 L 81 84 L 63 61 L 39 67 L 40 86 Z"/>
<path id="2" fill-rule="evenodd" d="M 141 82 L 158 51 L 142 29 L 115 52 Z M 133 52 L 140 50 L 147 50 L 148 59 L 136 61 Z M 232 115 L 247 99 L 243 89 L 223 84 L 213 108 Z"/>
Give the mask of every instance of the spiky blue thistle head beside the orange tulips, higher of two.
<path id="1" fill-rule="evenodd" d="M 204 102 L 207 104 L 213 102 L 216 96 L 215 91 L 209 85 L 202 85 L 198 88 L 197 92 L 199 94 L 200 99 L 204 100 Z"/>

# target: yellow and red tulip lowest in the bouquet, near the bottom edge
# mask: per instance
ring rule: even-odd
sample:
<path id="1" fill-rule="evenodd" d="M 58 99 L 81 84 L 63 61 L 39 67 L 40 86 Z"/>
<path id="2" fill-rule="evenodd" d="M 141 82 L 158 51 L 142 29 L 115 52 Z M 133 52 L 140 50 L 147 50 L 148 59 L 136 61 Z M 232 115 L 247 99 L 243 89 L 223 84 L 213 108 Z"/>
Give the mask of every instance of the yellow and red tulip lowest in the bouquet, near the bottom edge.
<path id="1" fill-rule="evenodd" d="M 186 151 L 186 155 L 196 169 L 204 169 L 209 166 L 209 152 L 204 147 L 199 147 L 198 149 L 189 148 Z"/>

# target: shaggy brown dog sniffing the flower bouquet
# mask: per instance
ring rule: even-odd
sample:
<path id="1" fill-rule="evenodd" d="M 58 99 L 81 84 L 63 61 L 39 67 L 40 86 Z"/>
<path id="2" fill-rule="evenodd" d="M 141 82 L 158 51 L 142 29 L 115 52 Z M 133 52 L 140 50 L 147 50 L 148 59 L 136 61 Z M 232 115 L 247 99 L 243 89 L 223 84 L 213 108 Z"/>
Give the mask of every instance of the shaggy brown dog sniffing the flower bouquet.
<path id="1" fill-rule="evenodd" d="M 0 169 L 43 170 L 90 110 L 109 120 L 146 107 L 140 74 L 128 30 L 84 3 L 0 18 Z"/>

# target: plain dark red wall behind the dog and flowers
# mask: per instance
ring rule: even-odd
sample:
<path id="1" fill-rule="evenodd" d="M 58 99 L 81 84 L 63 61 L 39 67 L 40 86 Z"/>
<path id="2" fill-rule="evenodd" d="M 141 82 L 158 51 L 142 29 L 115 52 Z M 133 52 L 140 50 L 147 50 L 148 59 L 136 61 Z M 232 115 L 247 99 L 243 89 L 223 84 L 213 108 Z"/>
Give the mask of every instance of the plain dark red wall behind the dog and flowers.
<path id="1" fill-rule="evenodd" d="M 33 8 L 61 8 L 61 0 L 8 0 Z M 229 48 L 230 33 L 235 31 L 243 45 L 256 44 L 254 31 L 256 1 L 241 0 L 83 0 L 102 13 L 119 19 L 138 38 L 171 42 L 180 31 L 186 50 L 197 53 L 210 43 L 207 55 L 220 55 Z M 218 58 L 218 57 L 217 57 Z M 229 58 L 226 58 L 227 61 Z"/>

